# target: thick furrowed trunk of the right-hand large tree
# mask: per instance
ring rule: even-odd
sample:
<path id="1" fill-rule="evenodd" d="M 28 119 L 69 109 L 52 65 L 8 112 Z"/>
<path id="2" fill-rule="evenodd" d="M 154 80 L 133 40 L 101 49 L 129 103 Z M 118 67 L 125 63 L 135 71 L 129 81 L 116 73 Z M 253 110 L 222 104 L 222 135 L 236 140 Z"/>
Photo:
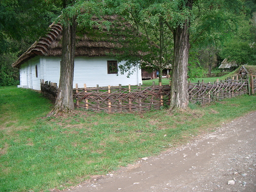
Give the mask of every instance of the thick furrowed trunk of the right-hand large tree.
<path id="1" fill-rule="evenodd" d="M 187 7 L 192 8 L 193 0 L 188 0 Z M 174 108 L 187 109 L 189 104 L 188 95 L 188 59 L 189 59 L 189 28 L 190 22 L 185 21 L 183 26 L 178 26 L 174 31 L 174 55 L 171 83 L 170 110 Z"/>

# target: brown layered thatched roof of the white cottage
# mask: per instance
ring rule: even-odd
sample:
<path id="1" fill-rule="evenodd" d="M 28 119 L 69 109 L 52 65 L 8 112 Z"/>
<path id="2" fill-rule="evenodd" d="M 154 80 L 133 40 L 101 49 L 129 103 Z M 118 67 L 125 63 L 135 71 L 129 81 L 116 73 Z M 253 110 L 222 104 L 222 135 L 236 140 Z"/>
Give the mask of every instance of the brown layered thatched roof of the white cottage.
<path id="1" fill-rule="evenodd" d="M 115 20 L 117 17 L 112 16 L 110 19 Z M 49 26 L 49 31 L 45 37 L 34 42 L 32 46 L 22 54 L 15 63 L 12 64 L 12 66 L 18 68 L 21 64 L 38 55 L 61 57 L 62 30 L 63 28 L 61 24 L 52 24 Z M 84 30 L 82 35 L 77 35 L 75 57 L 104 57 L 110 53 L 112 55 L 118 53 L 118 48 L 121 48 L 122 45 L 118 43 L 115 37 L 111 37 L 112 35 L 109 35 L 111 30 L 103 30 L 105 32 L 102 32 L 98 27 L 94 27 L 93 30 L 93 32 L 92 30 Z"/>

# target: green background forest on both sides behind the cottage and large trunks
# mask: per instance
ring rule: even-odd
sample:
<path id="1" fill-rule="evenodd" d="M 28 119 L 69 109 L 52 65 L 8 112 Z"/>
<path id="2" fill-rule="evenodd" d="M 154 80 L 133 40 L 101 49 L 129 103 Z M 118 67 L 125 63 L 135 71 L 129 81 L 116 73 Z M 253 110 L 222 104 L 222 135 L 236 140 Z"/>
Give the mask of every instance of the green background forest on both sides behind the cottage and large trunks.
<path id="1" fill-rule="evenodd" d="M 122 0 L 115 0 L 113 4 L 118 1 Z M 147 6 L 158 1 L 161 0 L 133 0 L 135 5 L 144 3 Z M 224 58 L 239 65 L 256 62 L 256 0 L 238 0 L 241 4 L 234 5 L 236 14 L 224 10 L 224 5 L 221 5 L 225 1 L 228 0 L 218 0 L 218 6 L 217 2 L 211 5 L 197 0 L 193 6 L 190 77 L 214 72 Z M 11 64 L 47 32 L 48 26 L 56 21 L 62 10 L 63 0 L 0 1 L 0 86 L 19 84 L 19 70 Z M 141 15 L 139 19 L 145 16 Z M 150 22 L 145 22 L 144 28 L 139 26 L 138 29 L 162 46 L 164 60 L 161 62 L 172 64 L 173 37 L 166 26 L 162 27 L 152 17 Z M 160 50 L 156 51 L 160 55 Z"/>

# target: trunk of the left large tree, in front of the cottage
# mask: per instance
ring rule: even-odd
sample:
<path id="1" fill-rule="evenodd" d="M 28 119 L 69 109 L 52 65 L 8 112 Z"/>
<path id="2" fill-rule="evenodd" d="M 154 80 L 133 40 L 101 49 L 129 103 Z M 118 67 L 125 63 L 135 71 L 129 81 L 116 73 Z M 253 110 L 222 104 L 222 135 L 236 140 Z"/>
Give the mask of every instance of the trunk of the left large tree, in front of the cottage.
<path id="1" fill-rule="evenodd" d="M 73 16 L 71 22 L 69 22 L 68 19 L 66 19 L 66 25 L 63 26 L 61 74 L 59 94 L 53 110 L 55 114 L 66 113 L 74 109 L 73 76 L 76 40 L 75 17 Z"/>

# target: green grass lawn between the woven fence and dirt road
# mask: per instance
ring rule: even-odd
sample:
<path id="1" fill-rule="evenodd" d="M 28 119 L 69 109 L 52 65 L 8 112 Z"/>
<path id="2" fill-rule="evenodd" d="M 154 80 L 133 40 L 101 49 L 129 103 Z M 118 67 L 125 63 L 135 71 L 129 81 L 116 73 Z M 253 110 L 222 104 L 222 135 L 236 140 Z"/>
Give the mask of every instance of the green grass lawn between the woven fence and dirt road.
<path id="1" fill-rule="evenodd" d="M 0 192 L 63 190 L 157 155 L 255 111 L 256 96 L 190 104 L 172 114 L 76 110 L 46 117 L 51 108 L 38 92 L 0 88 Z"/>

